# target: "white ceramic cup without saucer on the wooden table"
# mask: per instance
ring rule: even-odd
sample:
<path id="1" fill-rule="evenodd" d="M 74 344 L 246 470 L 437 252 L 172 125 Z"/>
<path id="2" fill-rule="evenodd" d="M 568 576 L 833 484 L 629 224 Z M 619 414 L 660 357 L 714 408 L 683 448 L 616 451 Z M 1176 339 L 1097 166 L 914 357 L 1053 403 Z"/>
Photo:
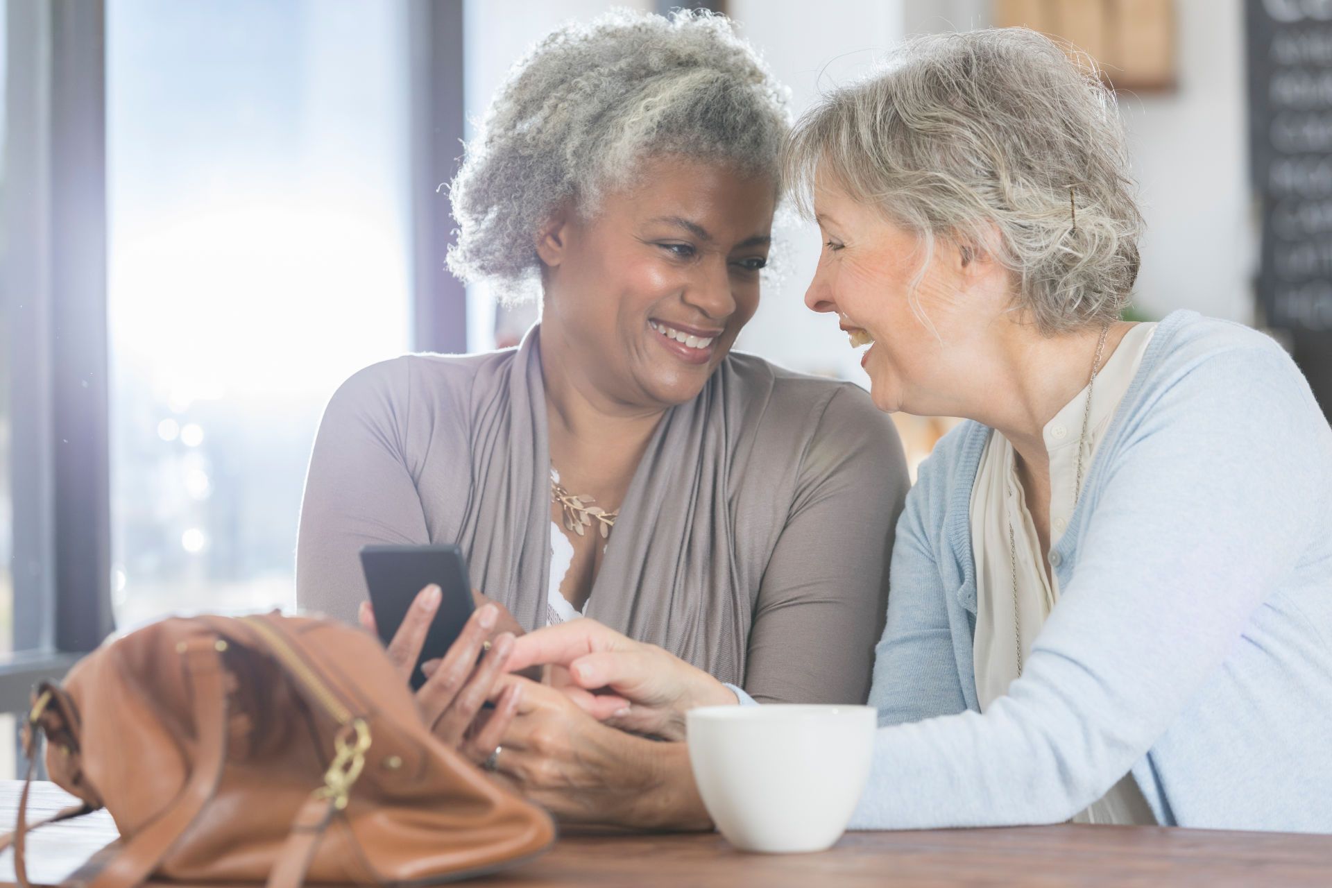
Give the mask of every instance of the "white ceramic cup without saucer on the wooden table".
<path id="1" fill-rule="evenodd" d="M 717 828 L 743 851 L 830 848 L 874 756 L 868 706 L 707 706 L 685 715 L 689 760 Z"/>

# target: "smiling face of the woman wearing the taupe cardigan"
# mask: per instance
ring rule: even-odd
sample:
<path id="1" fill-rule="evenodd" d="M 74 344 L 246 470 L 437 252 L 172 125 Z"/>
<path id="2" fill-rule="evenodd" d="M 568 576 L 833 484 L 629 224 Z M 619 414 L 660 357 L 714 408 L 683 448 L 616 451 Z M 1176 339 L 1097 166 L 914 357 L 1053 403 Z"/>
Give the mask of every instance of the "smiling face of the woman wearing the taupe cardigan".
<path id="1" fill-rule="evenodd" d="M 690 401 L 758 309 L 775 198 L 763 176 L 650 158 L 591 218 L 539 234 L 543 339 L 591 357 L 581 370 L 619 403 Z"/>

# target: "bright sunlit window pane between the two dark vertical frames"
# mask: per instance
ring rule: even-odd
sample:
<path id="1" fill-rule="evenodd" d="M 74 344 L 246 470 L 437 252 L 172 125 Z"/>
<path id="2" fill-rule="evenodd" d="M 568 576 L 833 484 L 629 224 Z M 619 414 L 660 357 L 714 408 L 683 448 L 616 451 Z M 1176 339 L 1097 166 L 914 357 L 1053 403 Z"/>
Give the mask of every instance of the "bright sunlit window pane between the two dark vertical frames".
<path id="1" fill-rule="evenodd" d="M 408 36 L 405 0 L 107 3 L 121 626 L 294 603 L 324 405 L 409 347 Z"/>

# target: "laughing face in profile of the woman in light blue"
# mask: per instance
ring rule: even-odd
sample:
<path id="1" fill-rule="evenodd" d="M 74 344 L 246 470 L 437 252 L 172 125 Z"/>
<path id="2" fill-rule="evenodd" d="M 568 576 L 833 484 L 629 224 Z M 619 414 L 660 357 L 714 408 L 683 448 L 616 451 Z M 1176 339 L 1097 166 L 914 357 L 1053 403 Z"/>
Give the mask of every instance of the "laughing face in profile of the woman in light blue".
<path id="1" fill-rule="evenodd" d="M 840 316 L 852 347 L 872 342 L 860 366 L 880 410 L 955 415 L 967 343 L 983 338 L 991 314 L 991 301 L 975 297 L 992 288 L 978 285 L 992 284 L 994 265 L 946 238 L 926 261 L 918 234 L 826 178 L 814 212 L 823 248 L 805 304 Z"/>

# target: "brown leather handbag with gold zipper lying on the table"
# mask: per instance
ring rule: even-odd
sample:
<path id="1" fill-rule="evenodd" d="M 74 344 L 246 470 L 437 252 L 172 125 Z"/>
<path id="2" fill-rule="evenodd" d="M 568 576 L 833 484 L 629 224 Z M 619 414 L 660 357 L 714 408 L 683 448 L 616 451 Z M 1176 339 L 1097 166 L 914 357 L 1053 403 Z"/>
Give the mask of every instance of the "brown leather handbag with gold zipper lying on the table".
<path id="1" fill-rule="evenodd" d="M 437 740 L 369 634 L 265 614 L 170 618 L 108 640 L 33 694 L 28 758 L 105 807 L 120 841 L 87 888 L 148 879 L 432 885 L 554 841 L 539 808 Z M 32 780 L 29 770 L 28 780 Z M 25 888 L 28 788 L 12 833 Z"/>

